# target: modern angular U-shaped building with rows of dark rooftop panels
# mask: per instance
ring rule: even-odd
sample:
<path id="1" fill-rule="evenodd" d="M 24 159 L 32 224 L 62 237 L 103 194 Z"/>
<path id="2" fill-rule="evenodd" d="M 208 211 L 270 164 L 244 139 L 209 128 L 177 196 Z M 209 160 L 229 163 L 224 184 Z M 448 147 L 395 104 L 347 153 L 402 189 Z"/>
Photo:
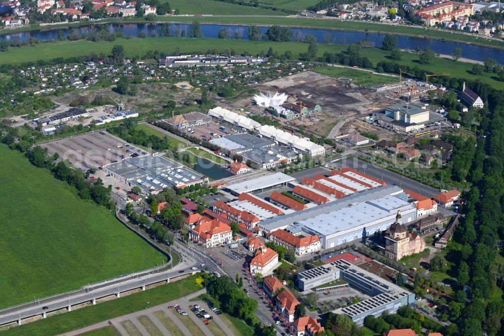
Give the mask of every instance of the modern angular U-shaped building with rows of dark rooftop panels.
<path id="1" fill-rule="evenodd" d="M 336 279 L 342 279 L 350 287 L 371 296 L 333 311 L 335 314 L 347 315 L 357 325 L 362 325 L 367 315 L 377 317 L 384 311 L 393 314 L 403 306 L 412 305 L 415 300 L 413 293 L 343 259 L 297 274 L 296 286 L 300 291 L 306 291 Z"/>

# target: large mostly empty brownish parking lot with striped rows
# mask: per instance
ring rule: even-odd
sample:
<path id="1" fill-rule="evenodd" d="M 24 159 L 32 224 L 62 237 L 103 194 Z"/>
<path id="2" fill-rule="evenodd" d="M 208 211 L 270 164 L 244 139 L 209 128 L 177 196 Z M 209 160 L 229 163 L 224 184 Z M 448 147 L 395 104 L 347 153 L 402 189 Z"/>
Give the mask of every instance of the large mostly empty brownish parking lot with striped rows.
<path id="1" fill-rule="evenodd" d="M 60 160 L 69 160 L 75 167 L 85 170 L 119 161 L 134 152 L 140 155 L 145 153 L 106 132 L 79 135 L 48 142 L 41 146 L 47 148 L 50 154 L 58 153 Z"/>

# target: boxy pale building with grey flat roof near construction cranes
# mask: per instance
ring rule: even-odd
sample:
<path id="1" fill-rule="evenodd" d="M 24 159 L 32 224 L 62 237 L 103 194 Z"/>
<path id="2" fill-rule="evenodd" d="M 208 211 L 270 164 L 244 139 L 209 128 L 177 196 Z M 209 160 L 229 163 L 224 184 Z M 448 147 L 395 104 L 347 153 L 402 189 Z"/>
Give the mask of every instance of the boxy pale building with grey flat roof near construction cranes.
<path id="1" fill-rule="evenodd" d="M 373 113 L 378 123 L 402 132 L 411 132 L 425 127 L 426 124 L 446 119 L 443 115 L 431 111 L 425 105 L 399 103 L 385 107 Z"/>

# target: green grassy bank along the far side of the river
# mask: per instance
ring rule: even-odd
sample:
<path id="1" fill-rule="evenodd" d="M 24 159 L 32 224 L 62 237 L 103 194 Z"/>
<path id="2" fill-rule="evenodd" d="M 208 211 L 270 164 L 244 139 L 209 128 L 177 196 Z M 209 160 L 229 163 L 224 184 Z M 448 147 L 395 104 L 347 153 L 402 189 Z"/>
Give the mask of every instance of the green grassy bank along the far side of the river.
<path id="1" fill-rule="evenodd" d="M 504 43 L 501 40 L 484 38 L 478 35 L 469 35 L 459 32 L 447 32 L 420 26 L 402 26 L 383 23 L 362 22 L 362 21 L 343 21 L 334 19 L 310 19 L 310 18 L 292 18 L 283 16 L 158 16 L 156 21 L 145 21 L 145 18 L 110 18 L 96 21 L 80 21 L 76 23 L 65 23 L 51 26 L 34 25 L 32 27 L 21 27 L 12 30 L 3 30 L 0 35 L 12 34 L 17 32 L 61 29 L 74 26 L 97 25 L 106 23 L 128 24 L 128 23 L 191 23 L 198 21 L 202 24 L 228 24 L 228 25 L 247 25 L 256 24 L 260 26 L 281 25 L 293 28 L 314 28 L 330 29 L 334 31 L 353 31 L 367 33 L 391 33 L 401 36 L 419 37 L 441 41 L 454 41 L 473 45 L 481 45 L 504 50 Z"/>

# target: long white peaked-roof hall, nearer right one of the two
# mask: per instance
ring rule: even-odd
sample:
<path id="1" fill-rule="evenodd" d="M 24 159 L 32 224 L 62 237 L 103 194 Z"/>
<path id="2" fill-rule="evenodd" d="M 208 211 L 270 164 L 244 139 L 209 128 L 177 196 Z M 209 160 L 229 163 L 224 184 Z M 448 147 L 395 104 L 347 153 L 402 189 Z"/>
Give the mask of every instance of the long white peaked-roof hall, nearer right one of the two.
<path id="1" fill-rule="evenodd" d="M 266 137 L 285 146 L 296 148 L 301 153 L 309 156 L 324 155 L 326 151 L 324 146 L 318 145 L 307 139 L 300 138 L 291 133 L 279 130 L 274 126 L 263 125 L 257 128 L 256 132 L 261 137 Z"/>

